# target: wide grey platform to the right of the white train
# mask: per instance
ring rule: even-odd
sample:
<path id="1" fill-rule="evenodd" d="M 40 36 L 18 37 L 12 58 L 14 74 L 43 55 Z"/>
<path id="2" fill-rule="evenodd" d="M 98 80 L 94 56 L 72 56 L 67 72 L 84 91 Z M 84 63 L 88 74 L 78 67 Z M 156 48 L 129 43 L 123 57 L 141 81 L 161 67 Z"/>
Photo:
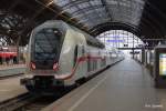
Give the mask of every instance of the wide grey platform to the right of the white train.
<path id="1" fill-rule="evenodd" d="M 166 90 L 155 89 L 148 70 L 125 59 L 43 111 L 166 111 Z"/>

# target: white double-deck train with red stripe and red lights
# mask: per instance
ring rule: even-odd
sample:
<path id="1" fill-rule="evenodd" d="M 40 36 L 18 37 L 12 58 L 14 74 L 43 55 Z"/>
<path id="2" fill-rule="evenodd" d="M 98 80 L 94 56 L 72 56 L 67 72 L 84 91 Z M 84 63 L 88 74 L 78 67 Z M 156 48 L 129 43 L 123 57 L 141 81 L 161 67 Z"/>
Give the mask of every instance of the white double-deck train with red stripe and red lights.
<path id="1" fill-rule="evenodd" d="M 48 20 L 34 28 L 27 52 L 27 71 L 21 84 L 44 92 L 80 83 L 124 59 L 86 32 L 61 20 Z"/>

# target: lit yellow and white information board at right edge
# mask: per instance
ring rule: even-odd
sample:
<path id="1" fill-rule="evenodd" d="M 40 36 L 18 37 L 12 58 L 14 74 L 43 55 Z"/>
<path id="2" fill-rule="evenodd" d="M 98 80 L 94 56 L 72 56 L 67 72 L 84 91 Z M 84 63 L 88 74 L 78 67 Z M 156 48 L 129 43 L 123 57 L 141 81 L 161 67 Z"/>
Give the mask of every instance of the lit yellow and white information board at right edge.
<path id="1" fill-rule="evenodd" d="M 166 75 L 166 53 L 159 53 L 159 75 Z"/>

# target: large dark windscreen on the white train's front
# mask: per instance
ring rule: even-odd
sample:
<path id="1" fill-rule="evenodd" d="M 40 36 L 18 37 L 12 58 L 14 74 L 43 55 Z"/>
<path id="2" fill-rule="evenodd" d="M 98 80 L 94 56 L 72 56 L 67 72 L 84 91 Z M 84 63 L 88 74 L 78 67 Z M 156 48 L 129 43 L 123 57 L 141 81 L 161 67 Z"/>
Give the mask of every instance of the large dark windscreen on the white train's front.
<path id="1" fill-rule="evenodd" d="M 58 60 L 61 42 L 61 32 L 56 29 L 43 29 L 35 34 L 34 59 Z"/>

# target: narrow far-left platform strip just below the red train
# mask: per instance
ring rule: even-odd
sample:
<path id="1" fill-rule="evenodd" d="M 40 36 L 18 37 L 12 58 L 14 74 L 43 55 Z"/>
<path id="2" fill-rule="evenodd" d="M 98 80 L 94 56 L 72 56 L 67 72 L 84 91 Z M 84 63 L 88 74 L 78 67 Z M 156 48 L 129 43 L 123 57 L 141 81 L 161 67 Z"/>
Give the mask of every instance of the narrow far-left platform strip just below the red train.
<path id="1" fill-rule="evenodd" d="M 15 75 L 25 71 L 25 64 L 0 65 L 0 78 L 7 75 Z"/>

